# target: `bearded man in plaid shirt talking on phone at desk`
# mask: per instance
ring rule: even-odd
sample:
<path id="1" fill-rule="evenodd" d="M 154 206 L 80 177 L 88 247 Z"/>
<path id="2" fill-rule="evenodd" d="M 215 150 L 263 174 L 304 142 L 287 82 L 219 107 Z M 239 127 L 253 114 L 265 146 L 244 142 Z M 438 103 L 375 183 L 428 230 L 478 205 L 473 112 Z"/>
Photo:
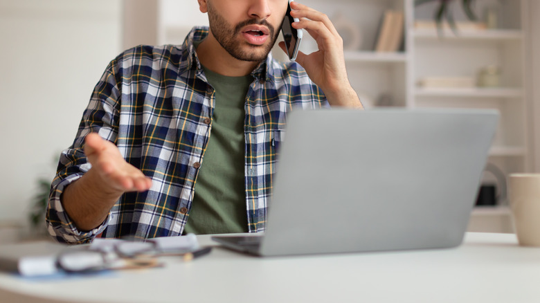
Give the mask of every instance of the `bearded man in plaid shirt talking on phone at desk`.
<path id="1" fill-rule="evenodd" d="M 291 3 L 319 49 L 300 67 L 269 55 L 287 0 L 198 1 L 209 29 L 127 50 L 96 85 L 51 188 L 58 241 L 264 231 L 285 113 L 361 108 L 321 12 Z"/>

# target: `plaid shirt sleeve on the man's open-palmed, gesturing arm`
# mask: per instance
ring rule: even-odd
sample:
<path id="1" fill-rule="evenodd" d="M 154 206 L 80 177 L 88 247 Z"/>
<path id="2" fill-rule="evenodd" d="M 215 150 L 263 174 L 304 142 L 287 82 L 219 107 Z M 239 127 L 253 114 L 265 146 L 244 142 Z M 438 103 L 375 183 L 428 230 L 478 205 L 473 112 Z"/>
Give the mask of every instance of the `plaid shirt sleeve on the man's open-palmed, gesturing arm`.
<path id="1" fill-rule="evenodd" d="M 107 227 L 109 216 L 100 226 L 89 231 L 78 230 L 62 205 L 62 193 L 66 186 L 78 180 L 91 168 L 84 155 L 84 138 L 91 132 L 105 140 L 116 143 L 120 108 L 119 79 L 112 61 L 93 90 L 87 109 L 84 110 L 73 145 L 60 154 L 57 173 L 51 184 L 46 226 L 48 233 L 61 243 L 82 244 L 92 241 Z"/>

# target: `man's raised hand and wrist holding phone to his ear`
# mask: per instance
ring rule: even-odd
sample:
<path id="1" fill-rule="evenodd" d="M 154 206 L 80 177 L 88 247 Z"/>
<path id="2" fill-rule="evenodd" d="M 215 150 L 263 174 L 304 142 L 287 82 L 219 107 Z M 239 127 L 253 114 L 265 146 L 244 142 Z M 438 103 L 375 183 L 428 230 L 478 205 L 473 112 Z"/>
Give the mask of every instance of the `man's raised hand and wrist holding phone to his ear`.
<path id="1" fill-rule="evenodd" d="M 318 51 L 309 55 L 298 52 L 296 62 L 303 66 L 309 78 L 323 89 L 330 105 L 361 108 L 358 95 L 347 77 L 343 39 L 330 19 L 322 12 L 296 1 L 291 2 L 291 8 L 291 16 L 300 19 L 292 26 L 307 30 L 318 46 Z M 287 52 L 284 42 L 280 42 L 280 47 Z"/>

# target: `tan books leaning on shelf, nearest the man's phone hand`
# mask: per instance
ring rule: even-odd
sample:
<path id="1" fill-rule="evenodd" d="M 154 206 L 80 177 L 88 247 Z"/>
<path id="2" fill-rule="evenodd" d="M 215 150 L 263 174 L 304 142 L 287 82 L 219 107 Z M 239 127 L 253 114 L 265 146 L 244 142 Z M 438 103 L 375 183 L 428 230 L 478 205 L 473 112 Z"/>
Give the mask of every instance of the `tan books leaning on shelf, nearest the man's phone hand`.
<path id="1" fill-rule="evenodd" d="M 396 52 L 402 45 L 404 30 L 404 15 L 398 10 L 386 10 L 384 12 L 381 26 L 379 26 L 379 35 L 376 52 Z"/>

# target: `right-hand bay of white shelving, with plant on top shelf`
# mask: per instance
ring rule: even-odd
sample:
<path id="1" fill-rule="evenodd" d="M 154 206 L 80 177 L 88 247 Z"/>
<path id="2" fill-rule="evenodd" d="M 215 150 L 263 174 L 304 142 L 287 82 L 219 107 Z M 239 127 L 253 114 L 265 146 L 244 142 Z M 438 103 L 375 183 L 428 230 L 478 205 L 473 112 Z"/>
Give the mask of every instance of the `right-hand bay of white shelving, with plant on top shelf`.
<path id="1" fill-rule="evenodd" d="M 413 1 L 406 1 L 413 5 Z M 408 89 L 411 90 L 410 107 L 464 107 L 498 109 L 500 125 L 494 138 L 488 163 L 496 165 L 505 176 L 512 172 L 530 170 L 527 142 L 527 114 L 525 93 L 525 56 L 522 28 L 526 28 L 528 1 L 500 3 L 491 0 L 476 1 L 476 11 L 498 6 L 497 28 L 487 30 L 415 30 L 415 20 L 431 18 L 434 7 L 415 8 L 408 22 L 411 56 Z M 457 6 L 457 3 L 456 3 Z M 504 6 L 504 7 L 502 7 Z M 512 6 L 512 7 L 510 7 Z M 458 15 L 459 7 L 453 8 Z M 500 85 L 494 88 L 423 88 L 417 85 L 422 77 L 451 76 L 478 77 L 485 66 L 501 68 Z M 494 176 L 485 174 L 484 183 L 496 183 Z M 498 187 L 501 187 L 498 184 Z M 494 207 L 475 208 L 469 230 L 485 232 L 512 232 L 510 209 L 505 197 Z"/>

